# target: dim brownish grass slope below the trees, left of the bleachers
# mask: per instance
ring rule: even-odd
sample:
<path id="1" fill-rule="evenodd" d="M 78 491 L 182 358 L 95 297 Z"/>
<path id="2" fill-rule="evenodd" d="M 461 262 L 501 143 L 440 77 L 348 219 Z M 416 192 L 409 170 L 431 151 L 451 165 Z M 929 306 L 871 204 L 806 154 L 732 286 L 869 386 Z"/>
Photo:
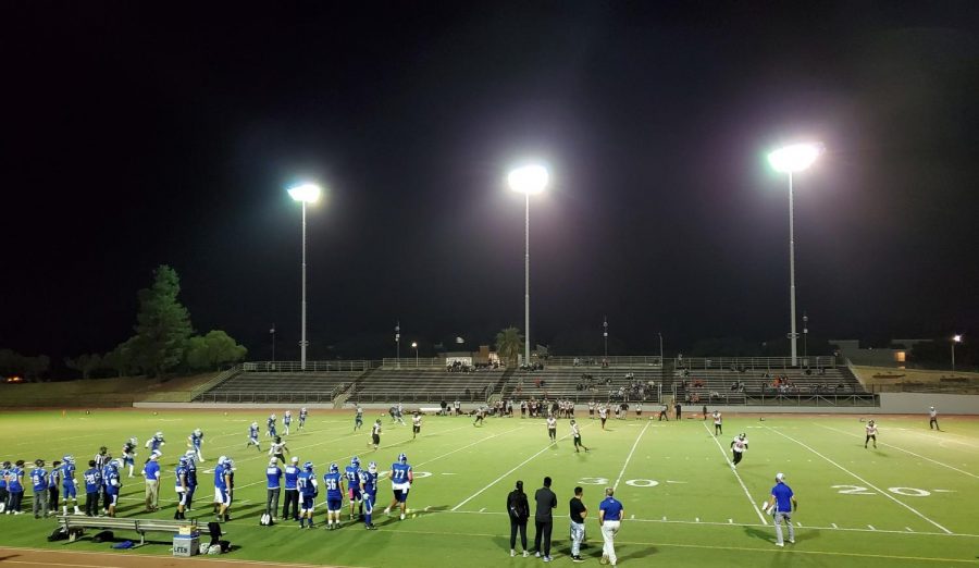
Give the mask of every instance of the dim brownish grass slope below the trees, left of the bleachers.
<path id="1" fill-rule="evenodd" d="M 0 406 L 28 407 L 99 407 L 133 406 L 135 400 L 189 402 L 190 392 L 216 373 L 190 376 L 148 379 L 120 376 L 50 383 L 0 384 Z"/>

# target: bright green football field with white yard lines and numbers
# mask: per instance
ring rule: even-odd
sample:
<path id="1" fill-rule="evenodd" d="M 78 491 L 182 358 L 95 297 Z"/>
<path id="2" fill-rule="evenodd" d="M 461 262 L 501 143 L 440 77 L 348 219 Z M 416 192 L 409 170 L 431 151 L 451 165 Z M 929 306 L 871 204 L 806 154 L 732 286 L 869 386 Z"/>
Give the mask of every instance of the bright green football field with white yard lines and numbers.
<path id="1" fill-rule="evenodd" d="M 282 410 L 276 411 L 281 417 Z M 298 408 L 293 409 L 294 416 Z M 340 566 L 526 566 L 541 560 L 509 557 L 507 493 L 523 480 L 531 494 L 545 476 L 554 478 L 559 506 L 555 511 L 553 556 L 570 566 L 568 501 L 573 487 L 584 487 L 590 509 L 587 546 L 582 555 L 598 564 L 602 538 L 597 509 L 606 486 L 625 506 L 625 521 L 617 539 L 623 566 L 681 566 L 694 561 L 712 566 L 956 566 L 979 564 L 979 422 L 943 417 L 941 432 L 929 431 L 927 417 L 879 417 L 879 448 L 864 449 L 859 417 L 771 415 L 728 416 L 724 434 L 715 437 L 710 422 L 699 419 L 659 422 L 597 420 L 579 415 L 590 453 L 575 454 L 568 421 L 558 424 L 558 442 L 548 443 L 542 420 L 487 418 L 473 427 L 467 417 L 426 417 L 422 434 L 411 439 L 410 425 L 383 417 L 381 448 L 368 447 L 369 430 L 352 431 L 352 415 L 313 411 L 306 431 L 287 443 L 293 455 L 317 465 L 318 477 L 331 461 L 340 468 L 357 455 L 386 471 L 405 452 L 416 483 L 409 518 L 380 514 L 391 499 L 391 484 L 382 479 L 377 531 L 347 523 L 329 532 L 300 531 L 295 522 L 258 526 L 264 508 L 264 468 L 268 457 L 246 449 L 248 424 L 264 431 L 267 411 L 96 410 L 4 412 L 0 416 L 0 456 L 50 461 L 73 454 L 78 469 L 87 469 L 100 445 L 117 454 L 123 441 L 142 442 L 161 430 L 163 450 L 162 508 L 172 518 L 173 465 L 194 428 L 205 431 L 199 466 L 201 487 L 188 516 L 212 520 L 205 502 L 213 494 L 211 471 L 219 455 L 236 461 L 233 520 L 225 524 L 236 546 L 234 557 Z M 369 410 L 364 429 L 379 416 Z M 410 424 L 410 421 L 409 421 Z M 729 445 L 744 432 L 749 450 L 736 470 Z M 262 439 L 268 449 L 268 437 Z M 771 518 L 758 509 L 769 495 L 777 472 L 786 476 L 798 498 L 793 516 L 796 543 L 774 546 Z M 144 516 L 139 479 L 123 478 L 121 517 Z M 27 495 L 30 494 L 28 489 Z M 321 493 L 321 498 L 323 494 Z M 25 498 L 25 510 L 30 501 Z M 346 505 L 345 505 L 346 507 Z M 317 521 L 325 519 L 319 506 Z M 0 516 L 2 544 L 58 547 L 72 551 L 108 550 L 87 539 L 48 543 L 54 521 L 29 514 Z M 533 521 L 529 527 L 533 546 Z M 134 538 L 120 533 L 116 536 Z M 165 535 L 157 534 L 165 540 Z M 520 548 L 518 542 L 518 550 Z M 121 555 L 170 554 L 159 543 Z"/>

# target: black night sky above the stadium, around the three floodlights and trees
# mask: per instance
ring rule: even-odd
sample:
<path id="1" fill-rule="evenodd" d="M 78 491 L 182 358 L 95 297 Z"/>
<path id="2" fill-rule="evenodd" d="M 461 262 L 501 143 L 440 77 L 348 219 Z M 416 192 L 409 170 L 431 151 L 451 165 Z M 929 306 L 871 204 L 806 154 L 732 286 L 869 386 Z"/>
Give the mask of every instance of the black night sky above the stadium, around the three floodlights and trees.
<path id="1" fill-rule="evenodd" d="M 357 8 L 354 8 L 357 7 Z M 7 2 L 0 347 L 132 334 L 159 263 L 195 328 L 283 357 L 350 337 L 532 332 L 667 351 L 788 331 L 979 332 L 979 5 L 894 2 Z M 392 337 L 393 338 L 393 337 Z M 563 338 L 563 339 L 562 339 Z M 393 344 L 391 345 L 393 350 Z M 404 351 L 402 351 L 404 353 Z M 377 353 L 376 357 L 391 356 Z"/>

